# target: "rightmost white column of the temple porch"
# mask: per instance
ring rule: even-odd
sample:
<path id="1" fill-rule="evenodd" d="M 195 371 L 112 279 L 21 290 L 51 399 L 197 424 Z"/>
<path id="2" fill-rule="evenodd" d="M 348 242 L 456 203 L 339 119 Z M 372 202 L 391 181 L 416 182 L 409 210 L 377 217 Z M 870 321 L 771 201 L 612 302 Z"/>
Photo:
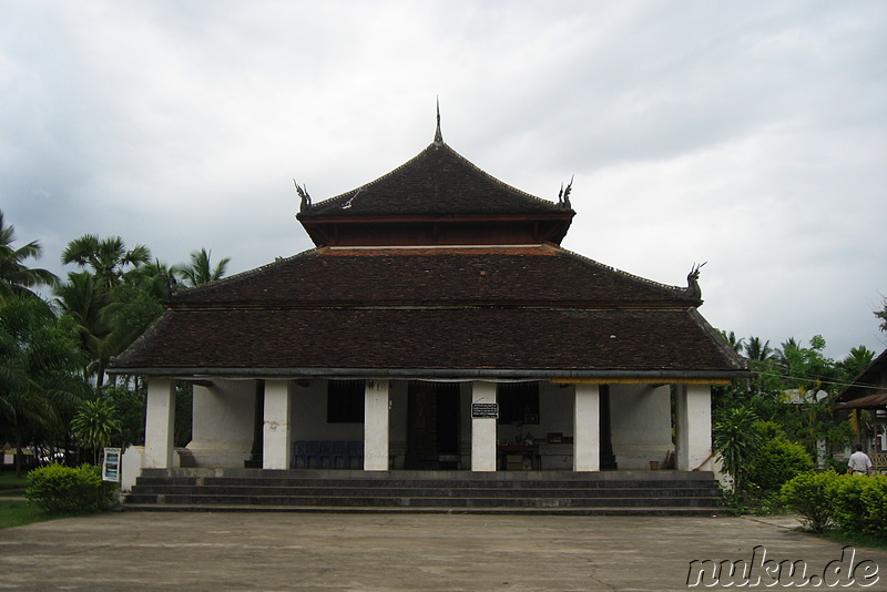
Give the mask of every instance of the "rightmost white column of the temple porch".
<path id="1" fill-rule="evenodd" d="M 679 471 L 692 471 L 712 456 L 712 387 L 677 385 L 676 388 L 675 466 Z"/>

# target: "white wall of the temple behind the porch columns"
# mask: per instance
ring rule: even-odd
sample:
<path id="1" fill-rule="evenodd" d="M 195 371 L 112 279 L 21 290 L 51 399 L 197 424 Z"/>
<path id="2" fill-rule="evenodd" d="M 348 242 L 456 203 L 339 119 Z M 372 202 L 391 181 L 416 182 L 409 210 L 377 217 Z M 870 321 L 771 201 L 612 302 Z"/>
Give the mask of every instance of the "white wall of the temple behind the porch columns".
<path id="1" fill-rule="evenodd" d="M 290 441 L 364 439 L 363 422 L 326 422 L 326 380 L 293 381 L 289 408 Z M 573 433 L 573 387 L 540 382 L 539 425 L 524 426 L 523 435 L 544 439 L 549 432 Z M 187 446 L 197 466 L 243 467 L 253 443 L 255 382 L 215 380 L 213 387 L 194 387 L 193 440 Z M 470 467 L 471 384 L 461 386 L 462 467 Z M 674 450 L 669 386 L 611 385 L 611 433 L 620 469 L 649 469 Z M 389 453 L 402 468 L 407 438 L 407 382 L 390 382 Z M 498 442 L 513 441 L 514 426 L 497 426 Z"/>

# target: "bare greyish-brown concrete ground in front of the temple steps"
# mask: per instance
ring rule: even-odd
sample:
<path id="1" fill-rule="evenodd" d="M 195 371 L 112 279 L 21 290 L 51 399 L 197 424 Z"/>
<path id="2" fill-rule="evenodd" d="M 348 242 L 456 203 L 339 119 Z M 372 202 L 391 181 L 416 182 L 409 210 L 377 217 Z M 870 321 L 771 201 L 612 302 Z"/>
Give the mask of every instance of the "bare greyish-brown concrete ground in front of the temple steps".
<path id="1" fill-rule="evenodd" d="M 0 590 L 669 591 L 687 590 L 691 561 L 752 563 L 756 545 L 774 560 L 771 567 L 803 560 L 816 578 L 828 567 L 820 588 L 855 575 L 849 589 L 887 590 L 886 551 L 860 548 L 850 559 L 848 550 L 842 562 L 840 544 L 793 530 L 797 524 L 785 518 L 112 512 L 0 530 Z M 855 573 L 836 571 L 850 564 Z M 787 583 L 767 580 L 759 568 L 752 579 L 757 574 L 761 585 L 745 589 Z"/>

